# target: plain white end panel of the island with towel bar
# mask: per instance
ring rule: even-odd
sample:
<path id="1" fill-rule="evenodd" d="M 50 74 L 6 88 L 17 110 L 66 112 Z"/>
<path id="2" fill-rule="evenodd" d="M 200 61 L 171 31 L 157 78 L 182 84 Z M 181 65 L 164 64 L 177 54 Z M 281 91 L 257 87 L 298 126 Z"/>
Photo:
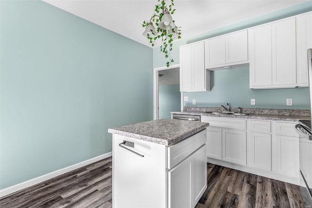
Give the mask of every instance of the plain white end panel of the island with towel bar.
<path id="1" fill-rule="evenodd" d="M 127 146 L 127 148 L 144 157 L 118 146 L 124 140 L 133 142 L 134 147 Z M 165 167 L 166 146 L 114 134 L 113 206 L 116 208 L 166 207 Z"/>

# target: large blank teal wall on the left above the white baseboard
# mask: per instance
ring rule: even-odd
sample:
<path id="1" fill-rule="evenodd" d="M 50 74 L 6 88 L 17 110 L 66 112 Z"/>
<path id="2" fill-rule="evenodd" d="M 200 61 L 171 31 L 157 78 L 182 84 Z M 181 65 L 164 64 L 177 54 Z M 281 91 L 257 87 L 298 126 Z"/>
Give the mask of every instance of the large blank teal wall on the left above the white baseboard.
<path id="1" fill-rule="evenodd" d="M 0 3 L 0 189 L 110 152 L 109 127 L 153 119 L 151 48 L 40 0 Z"/>

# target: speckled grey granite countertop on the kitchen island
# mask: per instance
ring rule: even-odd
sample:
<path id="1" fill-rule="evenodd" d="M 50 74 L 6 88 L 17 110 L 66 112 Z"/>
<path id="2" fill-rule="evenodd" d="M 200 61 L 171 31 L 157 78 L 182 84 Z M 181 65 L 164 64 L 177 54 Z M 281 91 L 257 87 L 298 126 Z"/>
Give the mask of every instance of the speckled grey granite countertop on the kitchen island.
<path id="1" fill-rule="evenodd" d="M 159 119 L 133 125 L 109 128 L 108 132 L 170 146 L 205 129 L 207 126 L 209 126 L 209 123 L 176 119 Z"/>

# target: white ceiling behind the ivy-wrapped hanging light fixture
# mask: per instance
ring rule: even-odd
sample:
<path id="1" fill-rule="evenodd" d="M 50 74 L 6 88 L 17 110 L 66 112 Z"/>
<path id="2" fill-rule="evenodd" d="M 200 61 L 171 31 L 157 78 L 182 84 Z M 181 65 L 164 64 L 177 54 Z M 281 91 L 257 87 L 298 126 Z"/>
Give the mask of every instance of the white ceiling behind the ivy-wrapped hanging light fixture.
<path id="1" fill-rule="evenodd" d="M 43 0 L 136 42 L 148 45 L 142 22 L 157 0 Z M 175 0 L 173 19 L 182 39 L 308 0 Z"/>

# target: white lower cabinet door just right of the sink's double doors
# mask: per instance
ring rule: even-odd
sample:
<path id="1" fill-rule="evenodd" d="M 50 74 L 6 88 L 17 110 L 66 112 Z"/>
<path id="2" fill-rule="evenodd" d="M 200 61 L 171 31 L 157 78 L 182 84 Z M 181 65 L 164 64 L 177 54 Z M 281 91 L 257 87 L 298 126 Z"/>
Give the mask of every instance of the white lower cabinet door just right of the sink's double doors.
<path id="1" fill-rule="evenodd" d="M 271 134 L 250 132 L 249 165 L 264 170 L 272 170 Z"/>

